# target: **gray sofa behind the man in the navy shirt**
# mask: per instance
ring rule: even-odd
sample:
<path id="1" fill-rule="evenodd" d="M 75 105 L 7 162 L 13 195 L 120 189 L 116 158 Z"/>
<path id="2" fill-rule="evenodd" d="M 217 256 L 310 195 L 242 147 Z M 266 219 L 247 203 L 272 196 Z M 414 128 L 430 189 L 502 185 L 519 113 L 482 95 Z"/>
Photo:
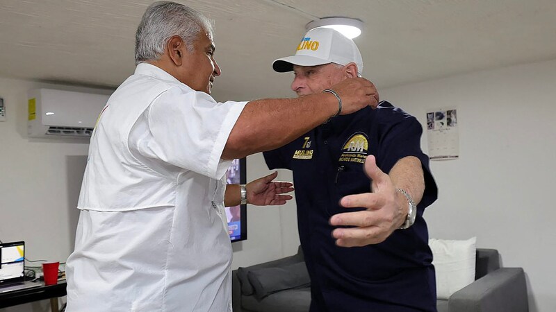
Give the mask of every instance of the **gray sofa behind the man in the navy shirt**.
<path id="1" fill-rule="evenodd" d="M 238 268 L 232 272 L 234 312 L 307 312 L 309 274 L 301 247 L 297 254 Z M 477 249 L 475 281 L 438 300 L 439 312 L 526 312 L 527 286 L 522 268 L 500 268 L 498 251 Z"/>

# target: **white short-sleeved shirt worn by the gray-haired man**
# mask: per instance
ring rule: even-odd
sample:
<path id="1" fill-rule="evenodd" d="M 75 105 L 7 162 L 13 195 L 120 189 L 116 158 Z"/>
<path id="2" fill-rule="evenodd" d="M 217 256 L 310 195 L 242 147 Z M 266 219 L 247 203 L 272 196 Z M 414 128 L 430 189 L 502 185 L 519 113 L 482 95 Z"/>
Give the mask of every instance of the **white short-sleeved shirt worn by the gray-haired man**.
<path id="1" fill-rule="evenodd" d="M 118 87 L 90 142 L 68 312 L 231 311 L 220 157 L 245 104 L 151 64 Z"/>

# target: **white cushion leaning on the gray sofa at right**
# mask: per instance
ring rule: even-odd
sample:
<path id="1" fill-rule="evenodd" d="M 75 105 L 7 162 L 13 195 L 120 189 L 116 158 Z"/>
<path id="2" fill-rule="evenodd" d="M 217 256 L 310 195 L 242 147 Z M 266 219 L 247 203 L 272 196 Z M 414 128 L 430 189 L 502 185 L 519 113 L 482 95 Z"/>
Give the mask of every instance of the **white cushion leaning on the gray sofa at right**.
<path id="1" fill-rule="evenodd" d="M 475 280 L 476 237 L 466 241 L 430 239 L 432 264 L 436 271 L 436 297 L 448 300 L 452 293 Z"/>

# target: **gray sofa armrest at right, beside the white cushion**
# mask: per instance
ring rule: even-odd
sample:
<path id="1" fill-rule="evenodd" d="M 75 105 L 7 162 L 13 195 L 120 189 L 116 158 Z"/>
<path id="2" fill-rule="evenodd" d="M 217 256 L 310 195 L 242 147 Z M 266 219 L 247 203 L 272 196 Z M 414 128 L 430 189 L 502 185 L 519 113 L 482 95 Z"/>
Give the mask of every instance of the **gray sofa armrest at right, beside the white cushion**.
<path id="1" fill-rule="evenodd" d="M 453 293 L 450 312 L 526 312 L 527 286 L 523 268 L 500 268 Z"/>

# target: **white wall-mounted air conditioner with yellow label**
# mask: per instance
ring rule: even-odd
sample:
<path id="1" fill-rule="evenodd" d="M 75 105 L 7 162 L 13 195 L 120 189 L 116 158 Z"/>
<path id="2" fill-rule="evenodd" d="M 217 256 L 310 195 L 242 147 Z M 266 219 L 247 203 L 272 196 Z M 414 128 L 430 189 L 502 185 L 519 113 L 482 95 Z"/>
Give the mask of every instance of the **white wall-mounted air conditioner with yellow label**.
<path id="1" fill-rule="evenodd" d="M 108 95 L 54 89 L 28 92 L 28 137 L 90 138 Z"/>

